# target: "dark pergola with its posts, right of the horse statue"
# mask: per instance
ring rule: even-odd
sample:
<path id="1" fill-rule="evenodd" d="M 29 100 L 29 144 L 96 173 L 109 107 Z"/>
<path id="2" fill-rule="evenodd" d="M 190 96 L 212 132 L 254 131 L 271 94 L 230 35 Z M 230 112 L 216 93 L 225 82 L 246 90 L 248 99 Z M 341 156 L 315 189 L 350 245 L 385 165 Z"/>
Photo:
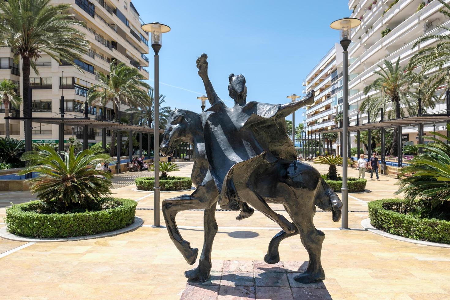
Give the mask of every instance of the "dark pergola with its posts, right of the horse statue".
<path id="1" fill-rule="evenodd" d="M 390 119 L 390 120 L 381 120 L 381 121 L 375 121 L 375 122 L 370 122 L 370 120 L 368 120 L 367 123 L 364 124 L 358 124 L 358 125 L 353 125 L 353 126 L 348 126 L 348 132 L 357 132 L 357 153 L 360 153 L 360 131 L 361 130 L 368 130 L 369 134 L 371 130 L 374 129 L 382 129 L 382 139 L 381 139 L 381 148 L 384 149 L 384 129 L 386 128 L 391 128 L 391 127 L 398 127 L 400 130 L 397 130 L 397 135 L 398 135 L 398 159 L 397 159 L 397 166 L 401 167 L 402 165 L 402 149 L 401 149 L 401 127 L 402 126 L 411 126 L 411 125 L 418 125 L 418 130 L 419 130 L 419 144 L 423 144 L 423 124 L 432 124 L 432 123 L 437 123 L 437 122 L 446 122 L 449 123 L 450 122 L 450 114 L 427 114 L 427 115 L 423 115 L 423 114 L 419 114 L 416 116 L 405 116 L 405 117 L 401 117 L 401 118 L 396 118 L 396 119 Z M 313 149 L 315 149 L 315 152 L 317 152 L 317 143 L 320 143 L 323 140 L 324 146 L 325 146 L 325 138 L 324 138 L 324 133 L 333 133 L 333 132 L 342 132 L 342 127 L 337 127 L 337 128 L 333 128 L 330 130 L 324 130 L 324 131 L 320 131 L 319 133 L 311 133 L 311 134 L 306 134 L 306 132 L 302 133 L 302 139 L 300 139 L 302 141 L 302 151 L 303 151 L 303 155 L 304 157 L 306 157 L 306 155 L 308 154 L 309 148 L 311 148 L 311 152 Z M 370 136 L 370 135 L 369 135 Z M 349 138 L 350 138 L 350 134 L 349 134 Z M 308 143 L 309 141 L 313 142 L 314 141 L 314 146 L 311 143 L 311 147 L 307 147 L 305 148 L 305 144 Z M 341 143 L 342 144 L 342 143 Z M 369 143 L 369 147 L 370 147 L 370 143 Z M 325 147 L 323 147 L 323 151 L 325 152 Z M 371 152 L 372 149 L 369 149 L 369 152 Z M 319 151 L 320 151 L 320 147 L 319 147 Z M 422 152 L 423 148 L 419 148 L 419 151 Z M 315 153 L 314 152 L 314 153 Z M 342 148 L 341 148 L 341 152 L 342 152 Z M 348 152 L 350 155 L 350 143 L 348 146 Z M 323 153 L 322 153 L 323 154 Z M 369 153 L 370 154 L 370 153 Z M 381 163 L 385 162 L 385 153 L 384 151 L 382 151 L 381 153 Z"/>

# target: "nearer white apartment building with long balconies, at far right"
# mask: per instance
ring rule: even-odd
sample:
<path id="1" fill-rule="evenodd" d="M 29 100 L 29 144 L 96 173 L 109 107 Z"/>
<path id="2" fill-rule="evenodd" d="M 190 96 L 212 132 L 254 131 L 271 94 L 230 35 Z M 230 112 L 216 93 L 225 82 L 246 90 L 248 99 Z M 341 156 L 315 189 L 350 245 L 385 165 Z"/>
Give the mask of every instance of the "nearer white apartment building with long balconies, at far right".
<path id="1" fill-rule="evenodd" d="M 421 5 L 422 2 L 425 2 L 426 5 Z M 450 0 L 446 0 L 446 2 L 450 3 Z M 348 50 L 348 103 L 350 125 L 353 126 L 356 125 L 358 118 L 360 124 L 368 122 L 367 114 L 360 113 L 359 107 L 364 99 L 375 93 L 372 91 L 365 95 L 363 90 L 366 85 L 377 78 L 378 75 L 374 74 L 374 71 L 380 70 L 378 65 L 383 65 L 385 59 L 395 62 L 400 57 L 401 66 L 405 66 L 419 49 L 435 42 L 435 40 L 423 42 L 411 49 L 416 40 L 428 34 L 450 34 L 450 32 L 437 27 L 442 24 L 448 26 L 449 23 L 449 20 L 439 13 L 439 9 L 443 5 L 437 0 L 350 0 L 348 7 L 353 9 L 351 17 L 360 18 L 362 22 L 353 30 L 352 43 Z M 342 49 L 336 56 L 342 57 Z M 338 70 L 339 68 L 342 70 L 342 59 L 341 64 L 337 63 L 336 67 Z M 306 89 L 310 90 L 311 88 L 307 85 Z M 434 110 L 427 112 L 444 112 L 445 109 L 445 103 L 437 103 Z M 335 111 L 329 110 L 332 114 L 340 111 L 342 111 L 342 101 L 335 107 Z M 381 116 L 377 120 L 370 121 L 379 121 L 380 119 Z M 306 115 L 306 124 L 310 121 L 312 121 L 311 115 Z M 434 126 L 426 124 L 424 131 L 429 132 L 434 129 L 443 131 L 445 124 L 436 123 Z M 314 129 L 307 126 L 306 130 Z M 404 145 L 418 143 L 417 126 L 403 127 L 402 134 Z M 351 133 L 351 147 L 356 147 L 355 135 L 356 133 Z"/>

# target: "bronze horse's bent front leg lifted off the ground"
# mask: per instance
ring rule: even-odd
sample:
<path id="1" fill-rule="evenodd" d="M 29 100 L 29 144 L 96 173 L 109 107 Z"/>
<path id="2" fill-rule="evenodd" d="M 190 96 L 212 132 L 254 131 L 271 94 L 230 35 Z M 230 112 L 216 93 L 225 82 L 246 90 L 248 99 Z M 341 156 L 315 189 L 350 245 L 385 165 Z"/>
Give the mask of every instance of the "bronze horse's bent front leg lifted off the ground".
<path id="1" fill-rule="evenodd" d="M 217 190 L 214 189 L 214 191 Z M 214 193 L 214 191 L 207 191 L 205 186 L 199 186 L 190 196 L 182 195 L 162 201 L 162 215 L 166 222 L 169 237 L 188 264 L 193 264 L 197 260 L 198 249 L 191 248 L 190 243 L 181 237 L 175 216 L 183 210 L 210 208 L 217 198 L 217 192 Z"/>

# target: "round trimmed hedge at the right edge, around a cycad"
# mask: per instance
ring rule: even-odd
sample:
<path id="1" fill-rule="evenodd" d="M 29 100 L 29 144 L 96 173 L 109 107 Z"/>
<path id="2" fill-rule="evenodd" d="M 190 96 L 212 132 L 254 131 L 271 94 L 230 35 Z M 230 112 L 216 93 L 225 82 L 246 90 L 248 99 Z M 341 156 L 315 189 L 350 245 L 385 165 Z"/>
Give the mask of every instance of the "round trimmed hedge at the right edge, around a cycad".
<path id="1" fill-rule="evenodd" d="M 406 215 L 410 208 L 410 202 L 403 199 L 370 201 L 370 224 L 402 237 L 450 244 L 450 221 Z"/>

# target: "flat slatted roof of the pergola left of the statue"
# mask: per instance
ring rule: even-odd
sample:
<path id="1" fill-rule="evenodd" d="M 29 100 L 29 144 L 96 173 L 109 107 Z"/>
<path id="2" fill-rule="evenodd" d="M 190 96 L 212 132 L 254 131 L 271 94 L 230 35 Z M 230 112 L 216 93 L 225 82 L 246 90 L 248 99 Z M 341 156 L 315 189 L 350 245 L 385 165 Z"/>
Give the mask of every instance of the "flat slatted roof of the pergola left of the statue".
<path id="1" fill-rule="evenodd" d="M 5 118 L 8 120 L 19 120 L 24 121 L 27 118 L 23 117 L 9 117 Z M 36 123 L 45 123 L 45 124 L 54 124 L 58 125 L 60 123 L 63 123 L 64 125 L 68 126 L 89 126 L 94 128 L 106 128 L 107 130 L 123 130 L 123 131 L 135 131 L 135 132 L 143 132 L 143 133 L 154 133 L 153 128 L 148 128 L 140 125 L 132 125 L 132 124 L 126 124 L 126 123 L 120 123 L 120 122 L 114 122 L 114 121 L 107 121 L 107 120 L 96 120 L 91 118 L 85 118 L 85 117 L 70 117 L 70 118 L 61 118 L 61 117 L 31 117 L 31 122 Z M 164 133 L 164 130 L 159 130 L 160 134 Z"/>

